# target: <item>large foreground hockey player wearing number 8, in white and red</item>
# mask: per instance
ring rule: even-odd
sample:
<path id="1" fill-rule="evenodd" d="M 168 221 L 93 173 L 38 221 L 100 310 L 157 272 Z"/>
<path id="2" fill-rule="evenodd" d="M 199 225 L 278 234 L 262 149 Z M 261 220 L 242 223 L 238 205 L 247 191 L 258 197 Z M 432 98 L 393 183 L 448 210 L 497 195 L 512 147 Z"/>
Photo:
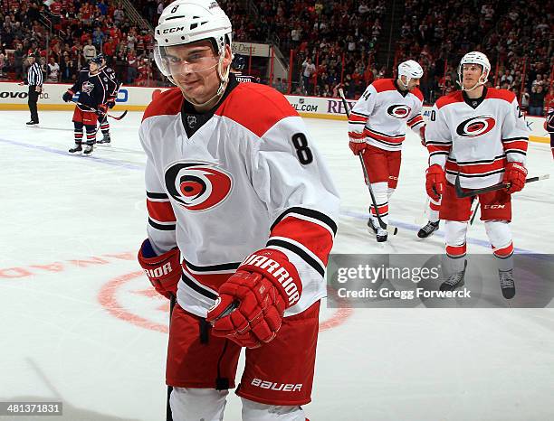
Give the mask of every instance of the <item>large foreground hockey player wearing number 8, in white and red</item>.
<path id="1" fill-rule="evenodd" d="M 230 74 L 232 27 L 213 0 L 167 5 L 148 106 L 148 239 L 139 263 L 177 295 L 167 350 L 173 419 L 221 420 L 238 357 L 244 420 L 304 421 L 339 196 L 298 113 Z"/>

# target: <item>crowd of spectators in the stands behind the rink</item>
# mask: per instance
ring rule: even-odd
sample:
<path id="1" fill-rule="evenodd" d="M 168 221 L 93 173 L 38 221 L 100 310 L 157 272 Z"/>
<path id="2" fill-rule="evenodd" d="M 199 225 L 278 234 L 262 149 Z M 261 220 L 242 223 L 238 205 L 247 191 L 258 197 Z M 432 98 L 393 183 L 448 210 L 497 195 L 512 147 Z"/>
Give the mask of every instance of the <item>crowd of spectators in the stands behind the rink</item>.
<path id="1" fill-rule="evenodd" d="M 168 3 L 133 5 L 155 26 Z M 234 23 L 234 41 L 274 42 L 287 58 L 292 51 L 291 88 L 272 80 L 282 92 L 337 97 L 343 88 L 358 98 L 373 80 L 392 76 L 398 62 L 414 59 L 425 70 L 421 89 L 432 103 L 457 88 L 463 53 L 479 50 L 492 62 L 491 85 L 513 90 L 530 114 L 542 114 L 554 99 L 551 2 L 444 0 L 436 7 L 431 0 L 406 0 L 388 67 L 378 62 L 388 49 L 385 0 L 262 0 L 249 9 L 248 2 L 219 3 Z M 102 52 L 125 84 L 165 85 L 153 43 L 152 32 L 131 23 L 118 0 L 0 0 L 0 79 L 22 80 L 24 58 L 39 53 L 47 81 L 72 83 Z M 254 71 L 268 81 L 265 69 Z"/>

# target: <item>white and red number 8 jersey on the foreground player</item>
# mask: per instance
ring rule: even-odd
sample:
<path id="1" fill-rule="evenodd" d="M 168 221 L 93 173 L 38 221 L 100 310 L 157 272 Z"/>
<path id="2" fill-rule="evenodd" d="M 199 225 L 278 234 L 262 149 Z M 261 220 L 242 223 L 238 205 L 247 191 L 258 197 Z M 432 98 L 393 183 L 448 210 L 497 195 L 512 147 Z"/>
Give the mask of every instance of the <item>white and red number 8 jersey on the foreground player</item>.
<path id="1" fill-rule="evenodd" d="M 179 89 L 147 108 L 148 239 L 161 254 L 177 244 L 177 302 L 205 317 L 219 286 L 245 257 L 276 248 L 298 269 L 301 313 L 326 295 L 339 194 L 306 126 L 286 98 L 232 77 L 224 98 L 195 114 Z"/>

